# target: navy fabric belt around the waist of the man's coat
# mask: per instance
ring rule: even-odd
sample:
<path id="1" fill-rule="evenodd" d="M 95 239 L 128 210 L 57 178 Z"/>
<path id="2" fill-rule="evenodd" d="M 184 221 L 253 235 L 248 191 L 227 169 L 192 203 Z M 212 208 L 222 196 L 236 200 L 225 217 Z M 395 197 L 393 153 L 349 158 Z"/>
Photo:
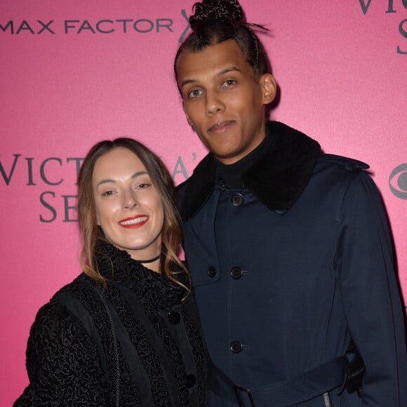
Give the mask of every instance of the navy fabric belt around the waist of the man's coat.
<path id="1" fill-rule="evenodd" d="M 208 386 L 218 396 L 236 401 L 239 407 L 246 406 L 242 401 L 244 393 L 244 398 L 250 400 L 252 407 L 255 407 L 255 403 L 259 406 L 289 407 L 340 387 L 345 381 L 348 363 L 347 356 L 339 356 L 291 380 L 261 389 L 235 385 L 225 373 L 212 364 Z"/>

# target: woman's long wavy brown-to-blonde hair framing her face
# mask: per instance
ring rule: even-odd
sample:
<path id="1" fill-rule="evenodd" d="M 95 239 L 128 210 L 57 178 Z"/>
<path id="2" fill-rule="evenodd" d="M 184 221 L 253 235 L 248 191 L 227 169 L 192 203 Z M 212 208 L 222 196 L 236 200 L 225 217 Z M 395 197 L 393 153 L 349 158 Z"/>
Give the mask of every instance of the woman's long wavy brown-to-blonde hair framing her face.
<path id="1" fill-rule="evenodd" d="M 93 168 L 96 161 L 107 152 L 116 148 L 126 148 L 133 152 L 147 169 L 154 187 L 156 187 L 164 207 L 164 225 L 161 232 L 161 244 L 164 246 L 165 261 L 164 273 L 169 279 L 178 283 L 190 292 L 191 278 L 185 265 L 179 260 L 177 254 L 182 242 L 182 221 L 175 206 L 175 187 L 170 173 L 159 156 L 131 138 L 116 138 L 115 140 L 103 140 L 94 145 L 86 155 L 78 176 L 78 201 L 77 211 L 79 220 L 79 232 L 83 241 L 80 262 L 84 272 L 91 279 L 106 284 L 106 279 L 98 272 L 95 265 L 95 247 L 99 240 L 105 240 L 103 232 L 98 227 L 96 219 L 95 197 L 93 195 Z M 175 279 L 170 269 L 171 262 L 177 264 L 187 276 L 187 284 Z M 178 273 L 178 272 L 177 272 Z"/>

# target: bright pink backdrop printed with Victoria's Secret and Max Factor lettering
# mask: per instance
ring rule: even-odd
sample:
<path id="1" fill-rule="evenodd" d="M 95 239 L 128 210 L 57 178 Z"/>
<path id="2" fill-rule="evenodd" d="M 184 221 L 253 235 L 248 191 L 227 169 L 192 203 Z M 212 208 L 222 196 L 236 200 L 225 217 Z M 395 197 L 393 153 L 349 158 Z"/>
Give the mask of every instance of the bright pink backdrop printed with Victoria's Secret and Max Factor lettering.
<path id="1" fill-rule="evenodd" d="M 173 57 L 193 0 L 2 0 L 0 405 L 27 385 L 39 307 L 80 272 L 76 170 L 104 138 L 145 142 L 185 180 L 206 154 L 183 116 Z M 371 165 L 407 298 L 407 4 L 241 0 L 281 88 L 272 118 Z M 391 179 L 390 179 L 391 178 Z"/>

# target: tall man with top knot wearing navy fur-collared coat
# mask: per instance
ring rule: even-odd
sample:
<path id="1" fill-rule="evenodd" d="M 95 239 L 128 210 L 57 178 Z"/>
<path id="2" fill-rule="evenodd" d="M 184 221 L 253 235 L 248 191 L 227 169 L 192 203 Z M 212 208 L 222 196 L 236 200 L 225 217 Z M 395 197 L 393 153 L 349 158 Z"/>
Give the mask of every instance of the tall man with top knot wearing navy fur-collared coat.
<path id="1" fill-rule="evenodd" d="M 209 406 L 407 406 L 392 242 L 368 166 L 267 122 L 276 83 L 236 1 L 196 4 L 190 22 L 175 76 L 210 154 L 179 201 L 218 371 Z"/>

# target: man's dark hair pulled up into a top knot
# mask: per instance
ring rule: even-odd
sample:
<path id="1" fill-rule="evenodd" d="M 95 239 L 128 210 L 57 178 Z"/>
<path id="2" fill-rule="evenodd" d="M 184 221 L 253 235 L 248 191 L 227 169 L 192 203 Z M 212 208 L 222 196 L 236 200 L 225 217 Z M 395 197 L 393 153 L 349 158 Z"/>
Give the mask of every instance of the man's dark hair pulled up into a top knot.
<path id="1" fill-rule="evenodd" d="M 268 31 L 262 25 L 246 22 L 243 9 L 237 0 L 203 0 L 193 6 L 189 17 L 192 33 L 178 48 L 174 61 L 175 79 L 178 79 L 177 62 L 184 51 L 199 52 L 211 45 L 232 39 L 239 46 L 243 58 L 256 77 L 269 72 L 265 49 L 252 27 Z"/>

